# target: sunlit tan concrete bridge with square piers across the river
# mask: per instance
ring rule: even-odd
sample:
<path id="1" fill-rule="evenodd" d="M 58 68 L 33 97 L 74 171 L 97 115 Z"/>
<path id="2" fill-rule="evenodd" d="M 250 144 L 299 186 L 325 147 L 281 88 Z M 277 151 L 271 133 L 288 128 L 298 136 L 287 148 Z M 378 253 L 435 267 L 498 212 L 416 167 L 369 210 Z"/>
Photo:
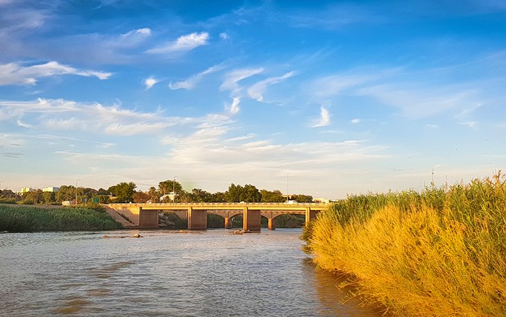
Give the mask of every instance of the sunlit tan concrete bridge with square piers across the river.
<path id="1" fill-rule="evenodd" d="M 262 216 L 268 228 L 274 229 L 274 218 L 282 214 L 304 214 L 306 225 L 317 212 L 326 209 L 324 203 L 141 203 L 109 204 L 108 207 L 141 228 L 157 228 L 158 213 L 171 210 L 181 219 L 188 219 L 188 229 L 206 229 L 207 214 L 225 219 L 225 228 L 232 228 L 232 217 L 243 215 L 244 230 L 260 230 Z"/>

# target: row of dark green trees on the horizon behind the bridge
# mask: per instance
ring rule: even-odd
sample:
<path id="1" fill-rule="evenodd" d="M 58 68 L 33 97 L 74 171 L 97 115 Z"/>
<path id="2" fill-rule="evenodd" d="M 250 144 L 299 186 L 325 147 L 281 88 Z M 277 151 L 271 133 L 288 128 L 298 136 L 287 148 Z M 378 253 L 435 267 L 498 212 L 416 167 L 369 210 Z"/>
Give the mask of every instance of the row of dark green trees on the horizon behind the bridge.
<path id="1" fill-rule="evenodd" d="M 0 203 L 24 203 L 60 205 L 63 201 L 76 200 L 78 204 L 92 203 L 168 203 L 173 199 L 177 203 L 283 203 L 286 196 L 281 191 L 257 189 L 254 185 L 235 185 L 232 183 L 225 192 L 210 193 L 203 189 L 194 188 L 186 191 L 176 180 L 164 180 L 157 187 L 150 187 L 148 191 L 137 191 L 134 182 L 120 182 L 108 189 L 92 189 L 89 187 L 74 187 L 62 185 L 56 192 L 37 189 L 22 196 L 4 189 L 0 190 Z M 299 203 L 311 203 L 312 196 L 295 194 L 290 200 Z"/>

